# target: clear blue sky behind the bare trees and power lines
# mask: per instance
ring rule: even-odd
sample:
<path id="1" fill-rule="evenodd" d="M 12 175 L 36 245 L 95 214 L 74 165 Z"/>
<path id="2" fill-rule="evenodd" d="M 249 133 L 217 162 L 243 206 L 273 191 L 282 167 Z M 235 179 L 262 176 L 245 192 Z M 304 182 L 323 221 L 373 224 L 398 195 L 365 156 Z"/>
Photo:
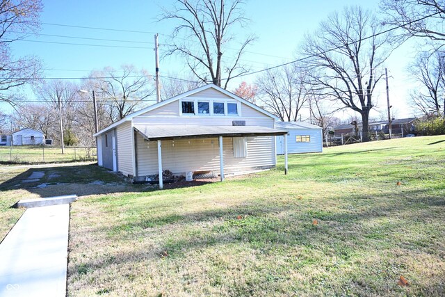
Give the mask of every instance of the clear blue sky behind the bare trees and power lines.
<path id="1" fill-rule="evenodd" d="M 166 35 L 172 33 L 173 24 L 156 22 L 161 14 L 161 6 L 166 8 L 174 3 L 165 1 L 44 1 L 44 11 L 41 15 L 41 30 L 37 37 L 30 35 L 26 40 L 13 45 L 16 56 L 30 55 L 40 57 L 46 77 L 86 77 L 91 70 L 100 70 L 111 66 L 133 64 L 143 67 L 150 73 L 154 72 L 154 51 L 152 44 L 154 33 L 159 33 L 160 49 Z M 378 10 L 379 1 L 362 1 L 364 8 Z M 356 5 L 357 1 L 247 1 L 246 16 L 251 19 L 247 33 L 257 35 L 257 40 L 248 49 L 249 53 L 243 57 L 245 63 L 252 66 L 252 70 L 259 70 L 266 65 L 277 65 L 290 61 L 303 35 L 314 31 L 319 22 L 334 10 L 341 10 L 344 6 Z M 121 31 L 104 31 L 81 29 L 72 25 L 120 29 L 129 31 L 143 31 L 147 33 L 131 33 Z M 243 33 L 241 33 L 243 34 Z M 65 35 L 78 38 L 126 40 L 127 42 L 108 42 L 104 40 L 84 40 L 76 38 L 62 38 L 47 35 Z M 39 41 L 39 42 L 32 42 Z M 131 41 L 131 42 L 130 42 Z M 88 45 L 108 45 L 110 47 L 94 47 L 81 45 L 62 45 L 44 42 L 65 42 Z M 142 43 L 149 42 L 149 43 Z M 115 47 L 120 46 L 120 47 Z M 138 48 L 129 48 L 138 47 Z M 397 49 L 387 61 L 392 78 L 390 79 L 391 104 L 394 105 L 398 117 L 410 115 L 404 101 L 407 77 L 405 70 L 412 58 L 412 52 L 407 46 Z M 275 56 L 275 57 L 273 57 Z M 175 59 L 161 61 L 161 74 L 176 74 L 183 72 L 184 67 Z M 252 82 L 254 75 L 243 80 Z M 233 90 L 241 83 L 234 81 L 229 85 Z M 384 82 L 378 92 L 378 104 L 385 109 L 386 97 Z M 35 99 L 29 93 L 31 99 Z M 8 109 L 3 104 L 3 107 Z"/>

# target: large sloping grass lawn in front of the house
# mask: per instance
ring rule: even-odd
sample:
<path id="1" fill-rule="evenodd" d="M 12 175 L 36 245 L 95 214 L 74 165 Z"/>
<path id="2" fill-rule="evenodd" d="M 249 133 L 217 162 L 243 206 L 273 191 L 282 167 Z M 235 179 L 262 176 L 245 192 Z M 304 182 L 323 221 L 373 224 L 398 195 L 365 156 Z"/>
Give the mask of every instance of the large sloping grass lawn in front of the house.
<path id="1" fill-rule="evenodd" d="M 445 136 L 278 161 L 164 191 L 74 180 L 68 296 L 445 295 Z"/>

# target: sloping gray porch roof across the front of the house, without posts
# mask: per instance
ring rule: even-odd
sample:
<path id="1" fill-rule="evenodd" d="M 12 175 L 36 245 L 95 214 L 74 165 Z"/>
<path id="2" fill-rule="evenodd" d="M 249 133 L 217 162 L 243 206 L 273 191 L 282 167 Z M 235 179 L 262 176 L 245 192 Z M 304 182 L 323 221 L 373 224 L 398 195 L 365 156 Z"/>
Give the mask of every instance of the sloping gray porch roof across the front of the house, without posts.
<path id="1" fill-rule="evenodd" d="M 260 126 L 197 126 L 197 125 L 147 125 L 135 124 L 134 130 L 147 141 L 181 138 L 280 136 L 288 131 Z"/>

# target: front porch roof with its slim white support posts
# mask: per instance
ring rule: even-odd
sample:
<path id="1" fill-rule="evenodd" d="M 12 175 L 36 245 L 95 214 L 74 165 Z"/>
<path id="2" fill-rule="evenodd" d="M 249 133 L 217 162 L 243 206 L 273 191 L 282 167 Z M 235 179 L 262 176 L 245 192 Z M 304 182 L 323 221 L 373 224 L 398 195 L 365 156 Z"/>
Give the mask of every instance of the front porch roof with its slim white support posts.
<path id="1" fill-rule="evenodd" d="M 181 141 L 196 140 L 206 138 L 218 139 L 219 148 L 219 169 L 220 180 L 225 178 L 225 158 L 223 152 L 223 138 L 247 138 L 256 136 L 281 136 L 286 138 L 287 131 L 272 129 L 259 126 L 197 126 L 197 125 L 145 125 L 136 124 L 133 127 L 136 133 L 140 134 L 145 141 L 156 143 L 157 146 L 157 165 L 159 172 L 159 188 L 163 188 L 163 148 L 161 141 Z M 213 143 L 213 142 L 212 142 Z M 234 145 L 235 146 L 235 145 Z M 234 150 L 241 150 L 241 147 L 234 147 Z M 286 148 L 285 148 L 286 150 Z M 136 163 L 137 167 L 138 164 Z M 287 150 L 285 152 L 285 174 L 287 173 Z"/>

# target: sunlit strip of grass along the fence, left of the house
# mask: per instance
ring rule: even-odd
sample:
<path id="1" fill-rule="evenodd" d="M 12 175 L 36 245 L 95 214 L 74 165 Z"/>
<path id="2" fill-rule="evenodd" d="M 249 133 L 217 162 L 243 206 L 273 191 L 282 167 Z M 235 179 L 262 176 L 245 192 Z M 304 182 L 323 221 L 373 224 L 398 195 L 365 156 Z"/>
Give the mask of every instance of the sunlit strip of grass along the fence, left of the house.
<path id="1" fill-rule="evenodd" d="M 62 154 L 60 147 L 49 145 L 0 146 L 0 164 L 60 163 L 95 158 L 96 149 L 91 149 L 88 156 L 88 150 L 83 147 L 65 147 L 65 154 Z"/>

